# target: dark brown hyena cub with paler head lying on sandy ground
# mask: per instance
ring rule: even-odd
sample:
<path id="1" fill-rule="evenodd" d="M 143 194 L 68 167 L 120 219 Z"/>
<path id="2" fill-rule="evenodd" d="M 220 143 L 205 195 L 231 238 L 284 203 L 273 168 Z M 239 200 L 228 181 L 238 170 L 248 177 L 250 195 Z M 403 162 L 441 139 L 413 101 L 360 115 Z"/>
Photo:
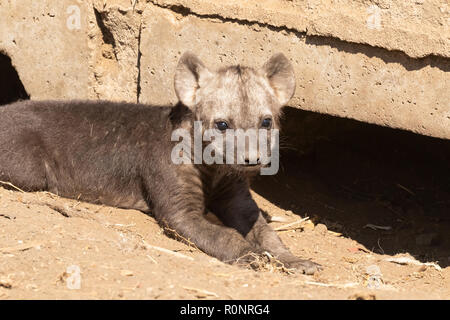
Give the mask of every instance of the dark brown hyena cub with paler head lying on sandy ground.
<path id="1" fill-rule="evenodd" d="M 259 149 L 246 146 L 243 155 L 236 155 L 242 164 L 173 161 L 178 144 L 173 132 L 194 135 L 196 121 L 203 131 L 218 135 L 228 129 L 278 129 L 280 109 L 294 89 L 292 66 L 282 54 L 259 70 L 231 66 L 211 71 L 185 53 L 175 74 L 180 102 L 171 108 L 16 102 L 0 108 L 0 180 L 27 191 L 151 211 L 168 230 L 222 261 L 269 252 L 285 266 L 312 274 L 318 265 L 283 245 L 250 195 L 248 177 L 268 165 L 258 159 Z M 271 140 L 268 144 L 276 147 Z M 250 161 L 255 152 L 256 161 Z M 226 153 L 225 146 L 215 150 L 216 157 Z M 207 212 L 222 225 L 207 220 Z"/>

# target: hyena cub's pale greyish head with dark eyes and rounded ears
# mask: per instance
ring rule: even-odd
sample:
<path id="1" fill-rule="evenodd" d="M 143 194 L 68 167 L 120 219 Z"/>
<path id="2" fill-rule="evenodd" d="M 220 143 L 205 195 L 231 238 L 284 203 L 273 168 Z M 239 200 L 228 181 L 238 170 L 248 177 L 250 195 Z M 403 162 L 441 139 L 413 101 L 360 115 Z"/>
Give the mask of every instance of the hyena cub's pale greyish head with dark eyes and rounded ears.
<path id="1" fill-rule="evenodd" d="M 292 65 L 281 53 L 259 69 L 237 65 L 217 71 L 185 53 L 175 74 L 178 99 L 203 134 L 203 161 L 244 171 L 267 166 L 278 155 L 280 110 L 294 90 Z"/>

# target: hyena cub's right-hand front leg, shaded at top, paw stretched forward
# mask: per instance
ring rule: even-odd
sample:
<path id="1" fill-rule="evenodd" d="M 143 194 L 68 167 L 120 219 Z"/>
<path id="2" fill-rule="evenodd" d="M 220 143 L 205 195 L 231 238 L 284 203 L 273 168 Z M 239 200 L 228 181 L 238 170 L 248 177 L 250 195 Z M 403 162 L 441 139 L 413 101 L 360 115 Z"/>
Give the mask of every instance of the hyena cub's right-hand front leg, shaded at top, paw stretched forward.
<path id="1" fill-rule="evenodd" d="M 267 224 L 257 204 L 251 197 L 245 181 L 234 183 L 219 201 L 213 212 L 228 227 L 236 229 L 253 246 L 254 252 L 269 252 L 288 268 L 314 274 L 320 266 L 293 255 L 276 232 Z"/>

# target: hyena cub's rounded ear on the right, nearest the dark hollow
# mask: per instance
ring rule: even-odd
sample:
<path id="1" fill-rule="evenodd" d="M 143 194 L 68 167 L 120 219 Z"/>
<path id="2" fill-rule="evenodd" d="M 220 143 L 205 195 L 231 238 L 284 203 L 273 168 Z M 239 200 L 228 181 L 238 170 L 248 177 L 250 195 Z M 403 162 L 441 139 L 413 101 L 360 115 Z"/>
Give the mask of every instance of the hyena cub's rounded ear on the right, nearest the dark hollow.
<path id="1" fill-rule="evenodd" d="M 288 103 L 295 92 L 295 74 L 285 55 L 273 55 L 262 67 L 262 72 L 269 80 L 280 104 L 283 106 Z"/>

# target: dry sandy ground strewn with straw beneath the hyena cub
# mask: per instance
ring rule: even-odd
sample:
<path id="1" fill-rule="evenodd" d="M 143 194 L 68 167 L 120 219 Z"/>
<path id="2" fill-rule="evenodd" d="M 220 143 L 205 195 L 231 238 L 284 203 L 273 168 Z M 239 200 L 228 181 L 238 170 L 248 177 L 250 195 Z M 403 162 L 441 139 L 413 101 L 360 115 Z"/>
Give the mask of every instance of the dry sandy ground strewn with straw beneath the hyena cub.
<path id="1" fill-rule="evenodd" d="M 300 219 L 254 196 L 270 215 L 284 218 L 273 227 Z M 308 220 L 282 230 L 280 236 L 292 251 L 312 257 L 323 271 L 305 276 L 270 265 L 263 271 L 227 265 L 166 237 L 155 220 L 141 212 L 2 188 L 0 298 L 450 298 L 449 267 L 393 263 L 389 259 L 394 257 L 420 262 L 410 254 L 375 253 Z"/>

